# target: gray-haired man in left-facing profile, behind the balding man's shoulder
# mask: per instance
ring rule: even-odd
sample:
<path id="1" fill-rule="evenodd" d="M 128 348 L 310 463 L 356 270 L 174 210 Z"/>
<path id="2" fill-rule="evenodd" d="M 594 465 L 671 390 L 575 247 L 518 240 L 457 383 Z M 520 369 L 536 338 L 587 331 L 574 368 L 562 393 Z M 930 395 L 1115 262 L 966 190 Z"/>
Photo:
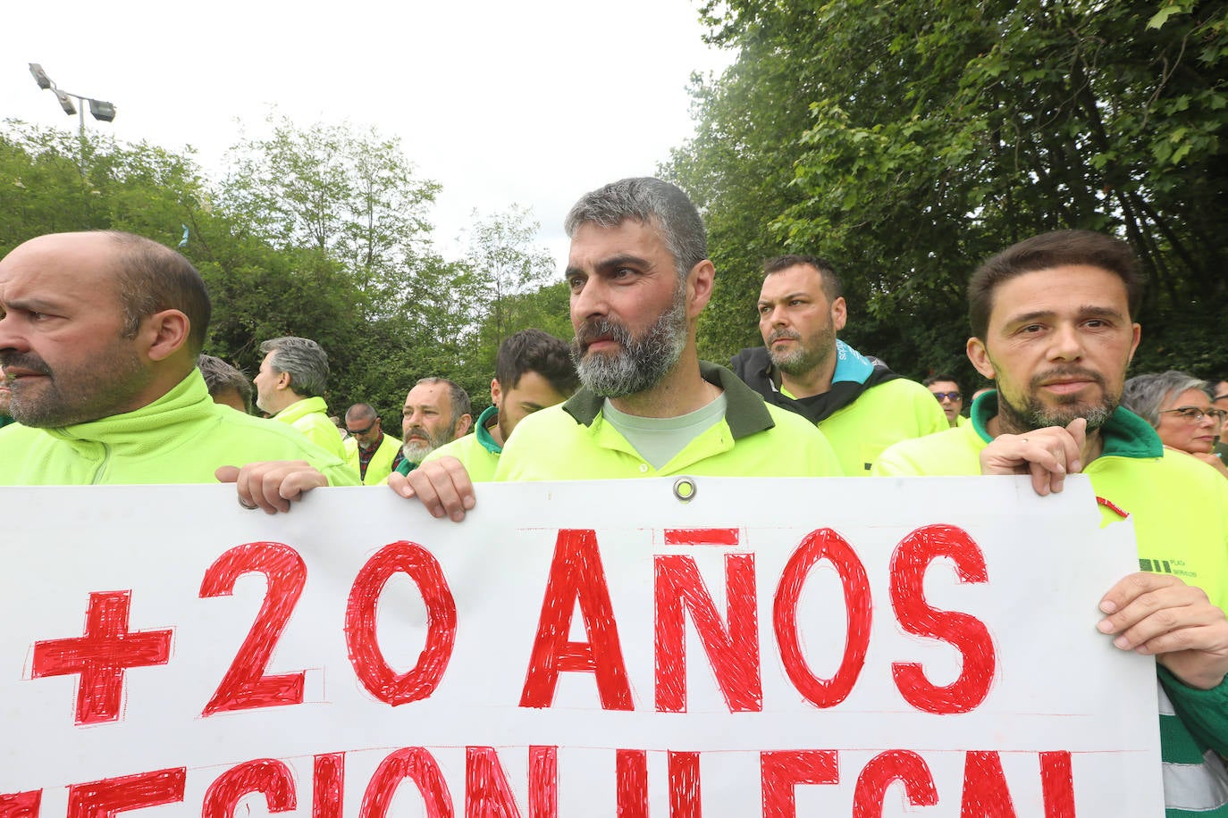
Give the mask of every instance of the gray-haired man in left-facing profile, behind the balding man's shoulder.
<path id="1" fill-rule="evenodd" d="M 264 361 L 255 374 L 255 405 L 289 423 L 321 449 L 341 460 L 345 444 L 336 426 L 328 419 L 324 388 L 328 385 L 328 354 L 311 338 L 292 335 L 260 345 Z"/>

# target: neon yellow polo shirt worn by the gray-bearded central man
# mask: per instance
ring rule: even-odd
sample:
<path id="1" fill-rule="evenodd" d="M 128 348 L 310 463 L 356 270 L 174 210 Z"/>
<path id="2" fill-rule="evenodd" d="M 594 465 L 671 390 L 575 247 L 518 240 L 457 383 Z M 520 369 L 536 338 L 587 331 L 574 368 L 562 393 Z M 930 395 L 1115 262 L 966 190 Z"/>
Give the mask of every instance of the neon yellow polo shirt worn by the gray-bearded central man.
<path id="1" fill-rule="evenodd" d="M 725 419 L 700 433 L 661 470 L 604 421 L 604 400 L 582 389 L 566 402 L 521 421 L 503 446 L 495 480 L 840 476 L 831 445 L 813 423 L 764 403 L 725 367 L 701 363 L 700 373 L 725 390 Z"/>

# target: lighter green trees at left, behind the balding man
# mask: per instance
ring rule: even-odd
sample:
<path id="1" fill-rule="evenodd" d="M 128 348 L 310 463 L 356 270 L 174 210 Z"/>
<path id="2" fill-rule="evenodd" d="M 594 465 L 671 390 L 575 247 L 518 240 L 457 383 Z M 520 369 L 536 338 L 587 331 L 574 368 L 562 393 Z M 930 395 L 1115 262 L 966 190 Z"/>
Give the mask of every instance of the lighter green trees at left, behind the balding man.
<path id="1" fill-rule="evenodd" d="M 236 168 L 204 178 L 190 153 L 17 121 L 0 129 L 0 255 L 44 233 L 123 229 L 179 249 L 214 302 L 206 352 L 254 373 L 260 341 L 302 335 L 328 352 L 325 396 L 366 401 L 395 430 L 413 383 L 453 377 L 486 394 L 467 264 L 430 244 L 438 186 L 416 179 L 395 140 L 274 123 L 241 142 Z"/>

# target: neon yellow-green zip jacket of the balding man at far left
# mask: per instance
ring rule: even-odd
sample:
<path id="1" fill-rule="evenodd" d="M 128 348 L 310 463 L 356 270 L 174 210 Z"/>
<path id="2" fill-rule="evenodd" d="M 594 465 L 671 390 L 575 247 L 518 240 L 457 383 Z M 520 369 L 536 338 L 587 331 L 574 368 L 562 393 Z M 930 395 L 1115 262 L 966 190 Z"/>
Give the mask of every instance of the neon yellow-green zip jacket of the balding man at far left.
<path id="1" fill-rule="evenodd" d="M 306 460 L 330 486 L 359 483 L 344 460 L 293 429 L 214 403 L 199 369 L 134 412 L 0 430 L 0 486 L 212 483 L 219 466 L 259 460 Z"/>

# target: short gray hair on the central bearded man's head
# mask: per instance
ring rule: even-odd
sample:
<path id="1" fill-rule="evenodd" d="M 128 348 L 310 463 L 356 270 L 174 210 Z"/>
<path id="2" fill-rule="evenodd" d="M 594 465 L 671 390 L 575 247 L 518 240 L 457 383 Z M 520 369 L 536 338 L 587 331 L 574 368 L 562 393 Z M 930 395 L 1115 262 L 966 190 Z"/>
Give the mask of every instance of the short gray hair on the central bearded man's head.
<path id="1" fill-rule="evenodd" d="M 651 177 L 619 179 L 586 193 L 562 228 L 571 238 L 581 224 L 618 227 L 629 218 L 661 229 L 679 278 L 707 258 L 707 234 L 695 205 L 682 188 Z"/>

